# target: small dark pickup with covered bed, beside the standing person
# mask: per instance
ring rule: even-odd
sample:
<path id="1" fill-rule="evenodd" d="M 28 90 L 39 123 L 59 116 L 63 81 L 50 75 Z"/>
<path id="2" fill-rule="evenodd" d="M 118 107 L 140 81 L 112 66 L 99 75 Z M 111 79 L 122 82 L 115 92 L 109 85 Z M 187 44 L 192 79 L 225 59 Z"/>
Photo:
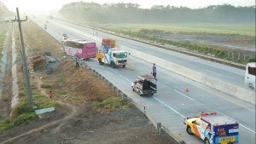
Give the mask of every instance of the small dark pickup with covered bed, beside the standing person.
<path id="1" fill-rule="evenodd" d="M 157 91 L 156 79 L 151 75 L 137 76 L 135 82 L 131 83 L 132 91 L 137 91 L 140 96 L 154 95 Z"/>

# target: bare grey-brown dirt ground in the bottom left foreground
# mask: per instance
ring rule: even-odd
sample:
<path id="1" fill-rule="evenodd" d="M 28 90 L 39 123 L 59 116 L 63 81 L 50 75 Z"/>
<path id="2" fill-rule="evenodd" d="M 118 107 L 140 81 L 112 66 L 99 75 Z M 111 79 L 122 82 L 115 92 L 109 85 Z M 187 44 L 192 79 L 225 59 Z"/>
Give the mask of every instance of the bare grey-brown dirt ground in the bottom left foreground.
<path id="1" fill-rule="evenodd" d="M 26 127 L 44 124 L 47 117 L 38 119 Z M 22 130 L 22 127 L 19 130 Z M 17 134 L 19 130 L 11 130 L 8 135 Z M 144 118 L 143 113 L 135 107 L 106 112 L 103 109 L 96 111 L 89 105 L 75 106 L 66 118 L 29 130 L 15 138 L 0 137 L 0 141 L 12 144 L 171 143 L 168 138 L 157 136 L 152 125 L 148 124 L 148 119 Z"/>

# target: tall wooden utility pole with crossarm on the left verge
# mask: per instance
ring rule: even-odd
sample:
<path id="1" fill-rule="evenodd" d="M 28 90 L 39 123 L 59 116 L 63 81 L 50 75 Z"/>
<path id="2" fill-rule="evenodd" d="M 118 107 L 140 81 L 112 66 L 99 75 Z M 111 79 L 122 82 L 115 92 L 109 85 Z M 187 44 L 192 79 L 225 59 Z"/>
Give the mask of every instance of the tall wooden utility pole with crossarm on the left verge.
<path id="1" fill-rule="evenodd" d="M 24 45 L 24 41 L 23 41 L 23 35 L 22 35 L 21 24 L 20 24 L 21 21 L 26 21 L 27 17 L 26 17 L 26 20 L 20 20 L 20 14 L 19 14 L 18 7 L 16 8 L 16 11 L 17 11 L 18 20 L 16 20 L 16 18 L 15 18 L 14 21 L 18 21 L 19 30 L 20 30 L 21 53 L 22 53 L 23 67 L 24 67 L 24 73 L 25 73 L 25 78 L 26 78 L 27 104 L 29 107 L 34 108 L 34 103 L 32 100 L 32 89 L 31 89 L 31 85 L 30 85 L 30 79 L 29 79 L 28 68 L 27 68 L 25 45 Z"/>

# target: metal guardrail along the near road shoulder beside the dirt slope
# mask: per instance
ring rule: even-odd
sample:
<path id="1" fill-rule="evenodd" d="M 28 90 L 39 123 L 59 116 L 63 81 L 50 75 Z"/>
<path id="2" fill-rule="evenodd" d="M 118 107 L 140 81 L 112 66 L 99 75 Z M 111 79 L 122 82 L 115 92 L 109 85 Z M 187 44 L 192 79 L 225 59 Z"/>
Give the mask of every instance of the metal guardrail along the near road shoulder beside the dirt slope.
<path id="1" fill-rule="evenodd" d="M 128 95 L 126 95 L 124 92 L 122 92 L 122 90 L 120 90 L 119 88 L 117 88 L 114 84 L 112 84 L 107 78 L 105 78 L 104 76 L 102 76 L 101 73 L 97 72 L 95 69 L 90 68 L 90 66 L 87 66 L 86 63 L 84 62 L 84 60 L 80 61 L 80 64 L 82 66 L 84 66 L 85 68 L 88 68 L 91 72 L 95 73 L 97 77 L 101 78 L 102 82 L 108 84 L 112 90 L 120 96 L 121 101 L 126 101 L 126 105 L 128 104 L 128 102 L 130 102 L 131 104 L 133 104 L 135 107 L 137 107 L 141 112 L 144 113 L 145 117 L 148 118 L 149 122 L 151 124 L 154 125 L 155 129 L 157 130 L 158 135 L 160 135 L 161 130 L 164 130 L 168 135 L 170 135 L 172 137 L 173 140 L 177 141 L 177 144 L 186 144 L 185 141 L 183 141 L 183 139 L 181 137 L 179 137 L 178 135 L 176 135 L 175 133 L 173 133 L 171 130 L 169 130 L 168 128 L 166 128 L 164 125 L 161 125 L 160 123 L 156 123 L 154 121 L 154 118 L 151 118 L 148 113 L 146 112 L 146 107 L 143 106 L 143 104 L 140 104 L 136 101 L 133 101 L 131 99 L 131 97 L 129 97 Z"/>

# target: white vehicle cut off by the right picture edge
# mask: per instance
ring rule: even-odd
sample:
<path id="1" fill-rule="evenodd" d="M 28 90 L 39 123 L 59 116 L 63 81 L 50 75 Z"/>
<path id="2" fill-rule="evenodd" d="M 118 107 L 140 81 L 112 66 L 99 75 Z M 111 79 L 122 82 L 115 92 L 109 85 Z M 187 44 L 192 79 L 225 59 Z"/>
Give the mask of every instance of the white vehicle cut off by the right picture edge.
<path id="1" fill-rule="evenodd" d="M 252 89 L 256 89 L 255 86 L 256 78 L 256 62 L 247 63 L 246 74 L 245 74 L 245 84 Z"/>

